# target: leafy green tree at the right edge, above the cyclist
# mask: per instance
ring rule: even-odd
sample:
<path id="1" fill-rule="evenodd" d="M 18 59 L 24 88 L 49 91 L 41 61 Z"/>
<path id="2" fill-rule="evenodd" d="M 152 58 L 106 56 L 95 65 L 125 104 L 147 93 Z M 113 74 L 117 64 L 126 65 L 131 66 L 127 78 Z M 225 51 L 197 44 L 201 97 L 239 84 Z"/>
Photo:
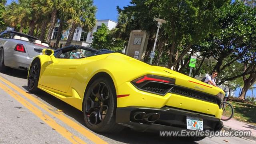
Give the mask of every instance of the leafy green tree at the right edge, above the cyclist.
<path id="1" fill-rule="evenodd" d="M 250 35 L 254 32 L 253 23 L 248 21 L 255 22 L 255 18 L 251 12 L 253 9 L 240 1 L 222 6 L 218 11 L 219 28 L 206 39 L 209 46 L 205 51 L 217 60 L 214 69 L 221 72 L 252 48 L 246 46 Z M 232 57 L 230 62 L 223 64 L 225 58 L 229 56 Z"/>

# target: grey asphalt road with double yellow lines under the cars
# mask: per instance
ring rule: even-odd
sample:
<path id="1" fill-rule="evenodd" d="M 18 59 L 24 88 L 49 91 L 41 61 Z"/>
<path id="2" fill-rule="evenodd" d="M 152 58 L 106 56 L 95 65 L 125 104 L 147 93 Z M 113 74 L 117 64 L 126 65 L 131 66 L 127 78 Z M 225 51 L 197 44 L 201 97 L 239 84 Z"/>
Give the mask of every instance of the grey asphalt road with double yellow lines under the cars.
<path id="1" fill-rule="evenodd" d="M 159 137 L 125 128 L 116 134 L 100 134 L 84 126 L 76 108 L 40 91 L 30 94 L 27 72 L 11 69 L 0 73 L 0 144 L 190 144 L 183 138 Z M 194 144 L 255 144 L 238 137 L 205 138 Z"/>

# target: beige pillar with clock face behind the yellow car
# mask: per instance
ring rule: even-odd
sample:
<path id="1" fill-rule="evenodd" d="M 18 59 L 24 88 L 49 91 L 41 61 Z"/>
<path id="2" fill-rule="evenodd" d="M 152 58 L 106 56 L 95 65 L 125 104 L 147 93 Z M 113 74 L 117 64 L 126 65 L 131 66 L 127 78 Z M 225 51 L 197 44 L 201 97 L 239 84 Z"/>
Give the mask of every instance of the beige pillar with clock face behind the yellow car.
<path id="1" fill-rule="evenodd" d="M 132 30 L 125 54 L 143 61 L 148 45 L 149 34 L 145 30 Z"/>

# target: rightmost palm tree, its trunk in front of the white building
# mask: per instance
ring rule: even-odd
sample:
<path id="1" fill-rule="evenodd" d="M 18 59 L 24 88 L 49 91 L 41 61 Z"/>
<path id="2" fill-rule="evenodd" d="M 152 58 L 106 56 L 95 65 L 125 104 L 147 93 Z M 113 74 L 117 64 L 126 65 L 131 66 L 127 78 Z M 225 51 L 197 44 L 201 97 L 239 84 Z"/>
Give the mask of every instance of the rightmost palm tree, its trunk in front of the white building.
<path id="1" fill-rule="evenodd" d="M 93 5 L 92 0 L 72 0 L 72 5 L 75 12 L 72 14 L 72 18 L 67 21 L 71 25 L 71 28 L 66 46 L 71 44 L 77 27 L 82 27 L 84 31 L 89 32 L 96 25 L 95 14 L 97 8 Z"/>

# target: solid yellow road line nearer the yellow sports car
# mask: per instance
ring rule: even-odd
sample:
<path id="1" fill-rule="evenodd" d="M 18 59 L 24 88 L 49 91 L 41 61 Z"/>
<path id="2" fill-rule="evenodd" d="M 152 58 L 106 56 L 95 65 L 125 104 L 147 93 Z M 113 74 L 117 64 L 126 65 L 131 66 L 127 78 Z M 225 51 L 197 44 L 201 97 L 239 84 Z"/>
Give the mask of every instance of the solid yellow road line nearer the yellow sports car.
<path id="1" fill-rule="evenodd" d="M 76 122 L 70 120 L 68 117 L 64 116 L 61 112 L 51 111 L 52 108 L 50 108 L 49 106 L 47 106 L 46 104 L 44 104 L 40 100 L 34 98 L 31 94 L 28 94 L 27 92 L 25 92 L 24 90 L 22 90 L 18 86 L 12 84 L 8 80 L 2 78 L 1 76 L 0 76 L 0 80 L 2 80 L 6 84 L 8 84 L 10 87 L 14 88 L 15 90 L 17 90 L 20 94 L 24 95 L 26 98 L 28 98 L 29 100 L 31 100 L 32 102 L 34 102 L 35 104 L 37 104 L 38 106 L 40 106 L 41 108 L 43 108 L 44 110 L 46 110 L 47 112 L 49 112 L 50 114 L 55 116 L 56 118 L 62 120 L 62 122 L 64 122 L 65 124 L 67 124 L 68 126 L 73 128 L 74 130 L 76 130 L 80 134 L 86 136 L 86 138 L 88 138 L 92 142 L 94 142 L 96 144 L 107 144 L 107 142 L 105 142 L 104 140 L 102 140 L 101 138 L 99 138 L 98 136 L 96 136 L 95 134 L 93 134 L 92 132 L 87 130 L 86 128 L 80 126 Z"/>

